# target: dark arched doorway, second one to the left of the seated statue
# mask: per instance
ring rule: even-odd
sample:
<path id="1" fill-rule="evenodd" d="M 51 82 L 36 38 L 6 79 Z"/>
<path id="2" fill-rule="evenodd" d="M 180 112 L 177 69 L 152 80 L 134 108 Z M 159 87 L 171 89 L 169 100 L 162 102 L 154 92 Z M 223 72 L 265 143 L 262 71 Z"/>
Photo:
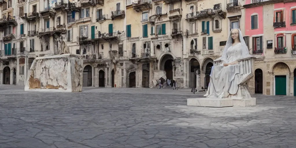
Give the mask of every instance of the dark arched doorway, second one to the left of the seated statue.
<path id="1" fill-rule="evenodd" d="M 189 87 L 196 88 L 198 78 L 197 73 L 200 72 L 200 63 L 197 61 L 197 59 L 192 58 L 189 62 L 189 68 Z"/>

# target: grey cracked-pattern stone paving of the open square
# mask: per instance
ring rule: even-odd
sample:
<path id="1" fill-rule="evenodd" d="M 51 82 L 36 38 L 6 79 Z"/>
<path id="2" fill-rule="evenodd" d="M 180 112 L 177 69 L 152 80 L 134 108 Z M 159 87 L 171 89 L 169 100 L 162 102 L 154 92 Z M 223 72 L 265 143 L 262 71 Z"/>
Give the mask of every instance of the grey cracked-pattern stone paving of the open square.
<path id="1" fill-rule="evenodd" d="M 296 148 L 296 97 L 188 107 L 190 89 L 25 92 L 0 85 L 1 148 Z"/>

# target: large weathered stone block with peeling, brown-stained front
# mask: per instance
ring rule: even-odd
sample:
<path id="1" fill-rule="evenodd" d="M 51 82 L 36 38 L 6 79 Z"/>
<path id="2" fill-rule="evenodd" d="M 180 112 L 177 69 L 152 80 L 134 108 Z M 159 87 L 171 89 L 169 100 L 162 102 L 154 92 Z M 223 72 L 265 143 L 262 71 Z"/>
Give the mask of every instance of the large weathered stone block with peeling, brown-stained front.
<path id="1" fill-rule="evenodd" d="M 83 84 L 83 57 L 61 54 L 34 59 L 25 91 L 79 92 Z"/>

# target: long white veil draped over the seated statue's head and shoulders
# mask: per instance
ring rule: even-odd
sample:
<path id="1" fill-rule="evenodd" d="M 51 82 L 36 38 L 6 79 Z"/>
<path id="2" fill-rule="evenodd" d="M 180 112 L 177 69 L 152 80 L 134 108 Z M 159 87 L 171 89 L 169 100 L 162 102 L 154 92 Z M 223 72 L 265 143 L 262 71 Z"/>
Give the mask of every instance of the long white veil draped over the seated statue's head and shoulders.
<path id="1" fill-rule="evenodd" d="M 234 29 L 232 29 L 232 30 L 234 30 Z M 230 31 L 228 40 L 226 42 L 226 46 L 224 47 L 224 51 L 223 51 L 222 56 L 221 56 L 221 60 L 224 61 L 224 62 L 228 62 L 227 61 L 227 49 L 230 46 L 232 46 L 232 38 L 231 38 L 232 30 Z M 237 29 L 237 30 L 239 30 L 239 29 Z M 242 57 L 241 58 L 250 57 L 251 55 L 250 55 L 248 46 L 246 45 L 246 42 L 244 41 L 241 30 L 239 30 L 239 40 L 242 43 Z"/>

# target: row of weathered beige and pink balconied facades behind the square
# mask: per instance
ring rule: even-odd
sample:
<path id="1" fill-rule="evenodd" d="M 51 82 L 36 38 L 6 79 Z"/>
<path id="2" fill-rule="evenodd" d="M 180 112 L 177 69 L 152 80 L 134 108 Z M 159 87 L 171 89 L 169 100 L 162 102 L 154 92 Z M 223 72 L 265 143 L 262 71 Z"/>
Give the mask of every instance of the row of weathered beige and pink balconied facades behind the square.
<path id="1" fill-rule="evenodd" d="M 239 28 L 256 56 L 250 93 L 295 94 L 294 0 L 0 4 L 0 84 L 24 85 L 38 56 L 72 53 L 84 57 L 83 86 L 152 88 L 165 78 L 180 88 L 207 88 L 213 61 Z"/>

